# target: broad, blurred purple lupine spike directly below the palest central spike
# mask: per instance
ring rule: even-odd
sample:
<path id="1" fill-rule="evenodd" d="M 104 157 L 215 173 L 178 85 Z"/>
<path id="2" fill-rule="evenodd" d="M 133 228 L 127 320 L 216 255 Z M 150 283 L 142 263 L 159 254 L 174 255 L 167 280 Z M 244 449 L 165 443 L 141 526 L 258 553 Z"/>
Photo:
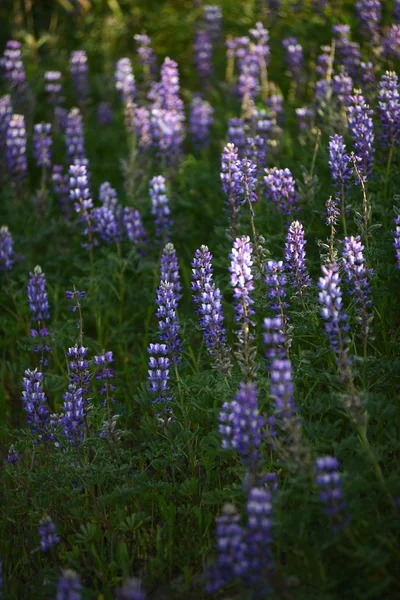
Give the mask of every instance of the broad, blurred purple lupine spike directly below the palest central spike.
<path id="1" fill-rule="evenodd" d="M 264 419 L 258 412 L 254 383 L 240 384 L 235 399 L 224 402 L 219 422 L 222 448 L 236 450 L 247 465 L 257 460 Z"/>

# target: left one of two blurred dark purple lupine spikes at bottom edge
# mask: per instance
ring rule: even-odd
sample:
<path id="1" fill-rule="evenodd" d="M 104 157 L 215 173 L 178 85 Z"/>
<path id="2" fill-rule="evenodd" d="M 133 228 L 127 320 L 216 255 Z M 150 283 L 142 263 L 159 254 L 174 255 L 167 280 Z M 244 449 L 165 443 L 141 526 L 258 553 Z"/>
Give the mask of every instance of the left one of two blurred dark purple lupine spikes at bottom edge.
<path id="1" fill-rule="evenodd" d="M 245 528 L 240 525 L 240 516 L 233 504 L 222 507 L 221 516 L 216 519 L 218 559 L 206 571 L 206 592 L 217 592 L 227 583 L 247 573 Z"/>

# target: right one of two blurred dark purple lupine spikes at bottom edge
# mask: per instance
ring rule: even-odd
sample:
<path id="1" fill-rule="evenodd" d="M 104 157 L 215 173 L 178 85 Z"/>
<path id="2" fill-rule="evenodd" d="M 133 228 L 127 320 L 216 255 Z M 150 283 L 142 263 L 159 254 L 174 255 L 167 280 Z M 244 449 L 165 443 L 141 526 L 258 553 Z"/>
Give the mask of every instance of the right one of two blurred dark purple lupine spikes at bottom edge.
<path id="1" fill-rule="evenodd" d="M 266 572 L 272 566 L 272 494 L 265 487 L 252 487 L 246 504 L 247 532 L 246 550 L 248 560 L 248 585 L 254 588 L 266 586 Z M 261 590 L 260 590 L 261 591 Z"/>

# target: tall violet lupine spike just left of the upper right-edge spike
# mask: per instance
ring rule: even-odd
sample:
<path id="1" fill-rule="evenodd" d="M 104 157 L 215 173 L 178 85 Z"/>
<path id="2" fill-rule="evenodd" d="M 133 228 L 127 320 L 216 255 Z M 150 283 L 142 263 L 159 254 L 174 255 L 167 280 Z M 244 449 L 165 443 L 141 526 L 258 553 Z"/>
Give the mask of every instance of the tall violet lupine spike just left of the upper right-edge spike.
<path id="1" fill-rule="evenodd" d="M 374 160 L 373 111 L 365 102 L 364 96 L 355 93 L 347 101 L 347 122 L 353 138 L 356 155 L 361 159 L 360 173 L 364 180 L 372 173 Z"/>

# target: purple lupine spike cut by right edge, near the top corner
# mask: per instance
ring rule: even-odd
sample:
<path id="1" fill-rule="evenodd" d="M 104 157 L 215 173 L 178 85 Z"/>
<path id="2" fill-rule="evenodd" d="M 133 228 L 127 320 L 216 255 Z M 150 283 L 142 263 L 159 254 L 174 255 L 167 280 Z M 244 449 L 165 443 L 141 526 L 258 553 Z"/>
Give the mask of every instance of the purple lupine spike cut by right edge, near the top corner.
<path id="1" fill-rule="evenodd" d="M 386 71 L 378 87 L 378 114 L 381 120 L 382 141 L 394 147 L 400 134 L 400 86 L 393 71 Z"/>

